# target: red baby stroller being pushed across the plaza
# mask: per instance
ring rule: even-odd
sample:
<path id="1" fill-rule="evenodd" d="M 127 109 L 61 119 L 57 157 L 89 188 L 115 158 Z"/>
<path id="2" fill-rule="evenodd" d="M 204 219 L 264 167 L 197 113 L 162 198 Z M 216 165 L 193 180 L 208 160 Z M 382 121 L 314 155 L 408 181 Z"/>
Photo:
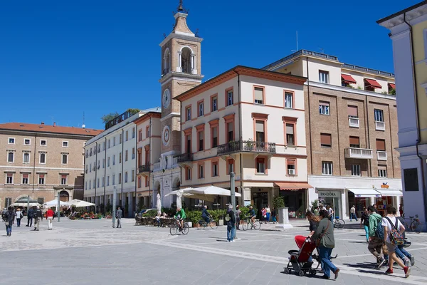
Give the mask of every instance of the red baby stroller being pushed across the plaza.
<path id="1" fill-rule="evenodd" d="M 290 250 L 288 252 L 290 257 L 284 273 L 291 274 L 292 271 L 295 271 L 299 276 L 304 276 L 307 273 L 313 276 L 316 275 L 317 271 L 312 269 L 312 252 L 316 249 L 315 243 L 304 236 L 295 236 L 295 243 L 299 250 Z"/>

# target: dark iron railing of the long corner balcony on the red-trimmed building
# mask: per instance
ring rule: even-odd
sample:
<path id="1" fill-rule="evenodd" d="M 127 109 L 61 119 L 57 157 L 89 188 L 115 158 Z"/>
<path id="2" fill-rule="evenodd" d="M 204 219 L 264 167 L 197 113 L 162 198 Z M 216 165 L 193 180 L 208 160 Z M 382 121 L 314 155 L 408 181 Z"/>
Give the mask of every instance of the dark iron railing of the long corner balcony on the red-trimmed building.
<path id="1" fill-rule="evenodd" d="M 231 152 L 268 152 L 275 153 L 275 142 L 254 142 L 253 140 L 239 140 L 218 145 L 218 155 Z"/>

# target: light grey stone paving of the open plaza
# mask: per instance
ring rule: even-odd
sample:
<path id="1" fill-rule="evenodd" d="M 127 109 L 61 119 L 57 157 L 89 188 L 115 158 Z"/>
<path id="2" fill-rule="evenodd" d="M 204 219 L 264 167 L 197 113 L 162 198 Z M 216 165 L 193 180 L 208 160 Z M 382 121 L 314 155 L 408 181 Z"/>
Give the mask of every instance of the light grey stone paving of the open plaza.
<path id="1" fill-rule="evenodd" d="M 308 233 L 305 221 L 285 232 L 264 224 L 271 230 L 238 231 L 234 243 L 226 242 L 225 227 L 171 237 L 169 229 L 135 227 L 134 219 L 123 219 L 122 229 L 112 229 L 109 219 L 62 219 L 52 231 L 44 220 L 39 232 L 25 224 L 24 218 L 11 237 L 1 233 L 0 284 L 427 284 L 426 234 L 407 234 L 416 264 L 404 279 L 397 266 L 391 276 L 385 267 L 373 269 L 356 224 L 336 230 L 332 254 L 341 271 L 333 281 L 283 273 L 288 250 L 297 249 L 295 235 Z"/>

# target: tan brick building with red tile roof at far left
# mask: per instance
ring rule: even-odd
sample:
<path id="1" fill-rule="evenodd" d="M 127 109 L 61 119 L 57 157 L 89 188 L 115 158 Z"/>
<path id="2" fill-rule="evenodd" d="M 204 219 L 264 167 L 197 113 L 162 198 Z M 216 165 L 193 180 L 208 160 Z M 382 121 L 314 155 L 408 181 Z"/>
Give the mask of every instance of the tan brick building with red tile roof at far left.
<path id="1" fill-rule="evenodd" d="M 53 125 L 0 124 L 0 203 L 30 195 L 39 203 L 83 199 L 83 146 L 100 130 Z"/>

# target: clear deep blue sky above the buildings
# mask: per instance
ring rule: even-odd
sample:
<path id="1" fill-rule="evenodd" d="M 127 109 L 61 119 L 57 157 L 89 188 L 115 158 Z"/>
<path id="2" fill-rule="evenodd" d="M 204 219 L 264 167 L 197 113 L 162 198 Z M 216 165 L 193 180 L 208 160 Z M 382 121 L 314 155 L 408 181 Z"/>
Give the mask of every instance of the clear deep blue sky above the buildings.
<path id="1" fill-rule="evenodd" d="M 1 1 L 0 123 L 103 128 L 105 113 L 160 105 L 163 33 L 178 0 Z M 376 20 L 418 3 L 184 0 L 199 28 L 202 73 L 261 68 L 298 48 L 393 71 L 391 40 Z"/>

